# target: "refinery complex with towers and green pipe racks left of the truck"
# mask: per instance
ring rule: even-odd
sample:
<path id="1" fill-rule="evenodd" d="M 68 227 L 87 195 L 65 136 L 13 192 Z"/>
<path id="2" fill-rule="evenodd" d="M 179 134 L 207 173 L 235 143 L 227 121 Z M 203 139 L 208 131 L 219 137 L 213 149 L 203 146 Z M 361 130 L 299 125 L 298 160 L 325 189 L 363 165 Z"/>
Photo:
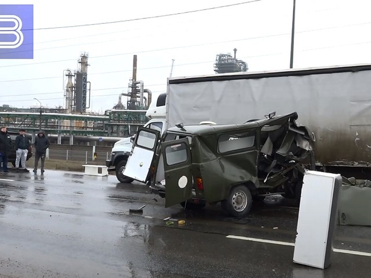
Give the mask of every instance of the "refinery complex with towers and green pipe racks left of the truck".
<path id="1" fill-rule="evenodd" d="M 0 124 L 9 130 L 25 128 L 32 137 L 37 130 L 44 130 L 52 143 L 69 145 L 113 145 L 124 136 L 131 136 L 147 122 L 145 112 L 152 101 L 152 93 L 137 80 L 137 55 L 133 59 L 133 77 L 127 93 L 118 94 L 118 103 L 104 115 L 86 112 L 90 107 L 88 81 L 88 57 L 82 53 L 79 69 L 64 70 L 67 77 L 64 84 L 65 107 L 30 107 L 27 109 L 0 106 Z M 128 101 L 122 103 L 122 96 Z"/>

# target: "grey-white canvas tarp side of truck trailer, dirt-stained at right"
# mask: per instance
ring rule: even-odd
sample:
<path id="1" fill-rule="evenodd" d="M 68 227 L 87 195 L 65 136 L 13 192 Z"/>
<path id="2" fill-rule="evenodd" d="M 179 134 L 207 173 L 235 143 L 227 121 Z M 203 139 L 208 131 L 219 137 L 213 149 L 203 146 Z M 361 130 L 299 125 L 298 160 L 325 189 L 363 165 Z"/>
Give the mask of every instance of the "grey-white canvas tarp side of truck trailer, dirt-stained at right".
<path id="1" fill-rule="evenodd" d="M 298 112 L 316 160 L 371 161 L 371 65 L 169 78 L 167 128 Z M 371 149 L 370 149 L 371 150 Z"/>

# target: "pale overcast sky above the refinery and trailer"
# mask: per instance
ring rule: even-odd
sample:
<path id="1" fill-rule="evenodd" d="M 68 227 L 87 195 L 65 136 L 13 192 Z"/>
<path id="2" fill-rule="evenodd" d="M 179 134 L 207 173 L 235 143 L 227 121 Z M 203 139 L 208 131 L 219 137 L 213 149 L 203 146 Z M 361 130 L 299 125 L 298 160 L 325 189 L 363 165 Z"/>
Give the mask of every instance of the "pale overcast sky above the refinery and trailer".
<path id="1" fill-rule="evenodd" d="M 38 29 L 239 2 L 243 0 L 19 0 L 17 4 L 34 5 Z M 248 63 L 250 72 L 287 69 L 292 3 L 261 0 L 156 19 L 35 30 L 33 60 L 0 60 L 0 104 L 39 105 L 36 97 L 43 106 L 64 106 L 63 70 L 77 69 L 81 52 L 89 53 L 88 81 L 95 112 L 111 109 L 119 93 L 127 92 L 133 54 L 138 55 L 137 79 L 155 97 L 166 91 L 171 59 L 175 59 L 173 76 L 212 75 L 216 54 L 233 53 L 236 47 L 237 58 Z M 371 63 L 370 8 L 367 0 L 296 0 L 294 67 Z"/>

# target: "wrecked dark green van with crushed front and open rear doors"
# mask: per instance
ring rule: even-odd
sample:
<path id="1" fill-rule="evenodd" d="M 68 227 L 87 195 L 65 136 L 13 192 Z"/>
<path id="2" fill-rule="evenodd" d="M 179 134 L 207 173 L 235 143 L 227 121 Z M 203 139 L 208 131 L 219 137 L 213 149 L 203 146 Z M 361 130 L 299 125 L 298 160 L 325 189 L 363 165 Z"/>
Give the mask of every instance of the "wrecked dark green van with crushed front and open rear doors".
<path id="1" fill-rule="evenodd" d="M 165 207 L 221 202 L 230 215 L 249 213 L 253 199 L 300 198 L 305 159 L 314 163 L 314 134 L 296 112 L 237 125 L 178 124 L 160 138 L 139 128 L 124 175 L 149 182 Z"/>

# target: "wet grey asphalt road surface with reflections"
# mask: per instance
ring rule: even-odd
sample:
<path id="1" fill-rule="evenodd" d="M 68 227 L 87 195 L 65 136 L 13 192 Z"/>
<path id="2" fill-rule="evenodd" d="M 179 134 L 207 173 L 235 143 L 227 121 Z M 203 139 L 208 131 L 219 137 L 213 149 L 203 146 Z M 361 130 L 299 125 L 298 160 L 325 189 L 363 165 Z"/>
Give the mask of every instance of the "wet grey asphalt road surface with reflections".
<path id="1" fill-rule="evenodd" d="M 129 213 L 142 205 L 143 214 Z M 0 278 L 370 277 L 371 257 L 336 252 L 322 271 L 294 264 L 292 246 L 226 238 L 294 242 L 298 211 L 284 205 L 270 198 L 233 219 L 219 205 L 165 208 L 147 186 L 115 176 L 8 173 L 0 176 Z M 186 223 L 167 226 L 168 216 Z M 371 227 L 337 226 L 334 247 L 371 252 Z"/>

